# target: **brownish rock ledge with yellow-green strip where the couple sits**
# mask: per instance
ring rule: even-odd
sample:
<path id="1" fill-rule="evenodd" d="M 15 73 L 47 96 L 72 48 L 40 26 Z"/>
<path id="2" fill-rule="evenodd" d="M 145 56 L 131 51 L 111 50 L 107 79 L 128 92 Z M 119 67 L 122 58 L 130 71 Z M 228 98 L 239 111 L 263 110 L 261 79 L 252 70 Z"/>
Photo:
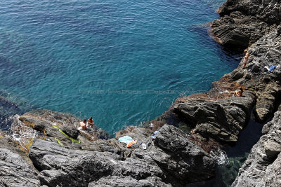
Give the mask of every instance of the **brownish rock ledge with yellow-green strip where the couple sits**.
<path id="1" fill-rule="evenodd" d="M 11 137 L 21 137 L 19 144 L 27 149 L 30 139 L 47 139 L 63 146 L 81 148 L 81 143 L 97 139 L 108 139 L 108 133 L 96 125 L 88 130 L 77 130 L 79 119 L 66 113 L 37 109 L 15 118 L 6 133 Z"/>

